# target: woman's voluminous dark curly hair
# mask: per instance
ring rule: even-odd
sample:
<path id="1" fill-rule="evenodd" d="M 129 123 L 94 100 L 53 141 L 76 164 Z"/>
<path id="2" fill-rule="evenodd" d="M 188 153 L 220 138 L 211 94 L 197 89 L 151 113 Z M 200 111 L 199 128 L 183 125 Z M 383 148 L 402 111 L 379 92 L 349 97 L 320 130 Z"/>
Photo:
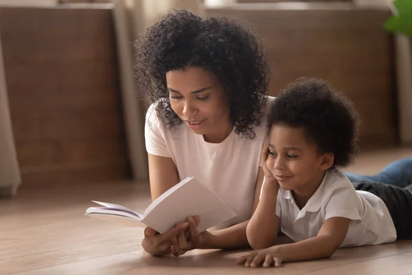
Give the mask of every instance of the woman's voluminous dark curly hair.
<path id="1" fill-rule="evenodd" d="M 203 19 L 175 10 L 135 42 L 135 83 L 143 98 L 163 111 L 168 128 L 181 124 L 170 106 L 165 74 L 187 66 L 216 76 L 229 99 L 229 120 L 238 135 L 255 137 L 268 89 L 269 66 L 257 36 L 226 17 Z"/>

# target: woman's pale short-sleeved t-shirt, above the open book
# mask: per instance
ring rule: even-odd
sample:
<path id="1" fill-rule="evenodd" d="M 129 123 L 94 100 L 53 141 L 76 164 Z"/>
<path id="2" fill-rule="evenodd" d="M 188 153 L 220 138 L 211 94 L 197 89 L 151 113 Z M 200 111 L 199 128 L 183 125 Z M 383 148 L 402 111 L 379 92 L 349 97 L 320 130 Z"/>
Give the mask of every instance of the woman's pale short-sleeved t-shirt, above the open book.
<path id="1" fill-rule="evenodd" d="M 269 97 L 269 105 L 274 98 Z M 171 157 L 179 179 L 196 177 L 238 214 L 238 217 L 212 229 L 226 228 L 251 218 L 260 153 L 267 138 L 266 115 L 256 126 L 255 139 L 240 137 L 233 131 L 219 144 L 205 142 L 203 135 L 193 133 L 186 124 L 166 129 L 165 118 L 150 106 L 146 113 L 146 151 Z"/>

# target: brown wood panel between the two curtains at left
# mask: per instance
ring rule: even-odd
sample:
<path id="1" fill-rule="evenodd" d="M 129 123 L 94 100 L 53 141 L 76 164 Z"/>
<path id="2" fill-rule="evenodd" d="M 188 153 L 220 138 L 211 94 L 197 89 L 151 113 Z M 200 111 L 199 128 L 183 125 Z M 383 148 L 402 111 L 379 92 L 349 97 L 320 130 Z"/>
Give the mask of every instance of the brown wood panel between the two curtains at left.
<path id="1" fill-rule="evenodd" d="M 128 177 L 110 8 L 0 8 L 23 184 Z"/>

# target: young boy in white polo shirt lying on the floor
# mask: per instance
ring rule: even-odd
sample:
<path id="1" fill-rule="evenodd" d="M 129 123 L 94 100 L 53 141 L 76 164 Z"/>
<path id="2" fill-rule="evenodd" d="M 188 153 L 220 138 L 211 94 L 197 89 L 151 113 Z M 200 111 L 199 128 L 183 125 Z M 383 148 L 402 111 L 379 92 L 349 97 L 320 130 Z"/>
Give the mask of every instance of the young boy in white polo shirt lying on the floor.
<path id="1" fill-rule="evenodd" d="M 322 80 L 300 78 L 275 100 L 262 151 L 265 181 L 247 225 L 257 251 L 238 263 L 279 266 L 328 258 L 344 246 L 412 239 L 412 186 L 353 186 L 339 170 L 356 153 L 357 124 L 352 103 Z M 295 243 L 272 246 L 278 225 Z"/>

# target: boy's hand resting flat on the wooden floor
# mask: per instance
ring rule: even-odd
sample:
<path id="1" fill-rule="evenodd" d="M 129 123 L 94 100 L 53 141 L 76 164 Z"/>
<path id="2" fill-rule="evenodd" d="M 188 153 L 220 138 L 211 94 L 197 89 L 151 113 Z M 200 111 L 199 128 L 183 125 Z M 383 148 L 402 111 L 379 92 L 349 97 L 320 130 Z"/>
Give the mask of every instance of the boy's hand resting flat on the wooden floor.
<path id="1" fill-rule="evenodd" d="M 275 265 L 275 267 L 280 267 L 284 256 L 282 256 L 282 251 L 279 250 L 277 246 L 271 248 L 266 248 L 264 250 L 256 250 L 249 255 L 242 256 L 238 259 L 237 263 L 245 267 L 260 267 L 263 263 L 263 267 L 270 267 Z"/>

